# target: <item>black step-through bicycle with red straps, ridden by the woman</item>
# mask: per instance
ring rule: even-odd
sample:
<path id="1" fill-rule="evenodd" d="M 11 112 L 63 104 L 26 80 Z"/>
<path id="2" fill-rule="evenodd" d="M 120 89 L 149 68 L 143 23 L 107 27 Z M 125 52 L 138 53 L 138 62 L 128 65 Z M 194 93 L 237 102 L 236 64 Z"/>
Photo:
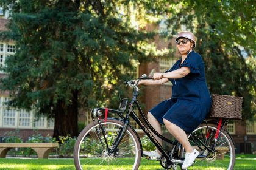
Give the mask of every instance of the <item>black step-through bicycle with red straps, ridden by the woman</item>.
<path id="1" fill-rule="evenodd" d="M 144 75 L 137 79 L 149 79 Z M 76 169 L 138 169 L 143 156 L 140 137 L 129 124 L 130 118 L 140 126 L 144 133 L 162 153 L 160 164 L 165 169 L 181 169 L 185 149 L 177 140 L 169 140 L 158 134 L 149 124 L 138 103 L 139 89 L 133 81 L 127 81 L 133 89 L 130 102 L 121 100 L 119 109 L 95 108 L 91 111 L 93 122 L 80 133 L 74 147 L 74 163 Z M 127 106 L 129 103 L 129 106 Z M 140 117 L 135 112 L 140 114 Z M 108 117 L 109 113 L 118 115 Z M 142 118 L 142 119 L 141 119 Z M 200 152 L 194 165 L 188 169 L 233 169 L 235 164 L 235 148 L 232 137 L 224 126 L 229 120 L 204 120 L 188 140 L 191 146 Z M 151 131 L 149 131 L 149 129 Z M 163 141 L 173 145 L 170 151 L 161 146 L 153 132 Z"/>

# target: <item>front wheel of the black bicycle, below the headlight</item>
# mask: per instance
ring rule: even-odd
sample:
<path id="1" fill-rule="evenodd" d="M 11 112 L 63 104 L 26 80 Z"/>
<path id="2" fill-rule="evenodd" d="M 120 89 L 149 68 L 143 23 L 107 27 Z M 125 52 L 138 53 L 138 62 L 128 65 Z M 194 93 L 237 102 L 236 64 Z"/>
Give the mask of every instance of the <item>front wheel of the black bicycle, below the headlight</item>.
<path id="1" fill-rule="evenodd" d="M 88 124 L 77 137 L 74 146 L 76 169 L 138 169 L 141 160 L 141 145 L 132 128 L 127 127 L 121 143 L 113 153 L 110 153 L 107 144 L 111 149 L 124 123 L 118 120 L 107 120 L 101 125 L 104 133 L 98 121 L 94 121 Z"/>

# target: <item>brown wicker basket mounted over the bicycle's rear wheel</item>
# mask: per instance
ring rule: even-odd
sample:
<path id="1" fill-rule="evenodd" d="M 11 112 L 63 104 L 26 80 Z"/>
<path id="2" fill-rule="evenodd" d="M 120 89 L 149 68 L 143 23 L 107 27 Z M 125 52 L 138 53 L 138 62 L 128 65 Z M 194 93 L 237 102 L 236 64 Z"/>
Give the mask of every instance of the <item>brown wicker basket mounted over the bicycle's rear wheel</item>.
<path id="1" fill-rule="evenodd" d="M 242 119 L 243 97 L 211 95 L 212 107 L 208 117 Z"/>

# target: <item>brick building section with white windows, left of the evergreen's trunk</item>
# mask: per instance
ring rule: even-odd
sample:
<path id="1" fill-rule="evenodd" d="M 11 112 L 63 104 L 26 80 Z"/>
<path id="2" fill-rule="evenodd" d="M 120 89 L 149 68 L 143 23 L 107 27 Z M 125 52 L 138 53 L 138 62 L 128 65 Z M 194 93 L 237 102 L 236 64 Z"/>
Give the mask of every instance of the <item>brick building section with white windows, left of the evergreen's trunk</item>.
<path id="1" fill-rule="evenodd" d="M 10 9 L 12 7 L 10 6 Z M 0 7 L 0 32 L 7 30 L 9 17 L 12 15 L 11 10 L 3 10 Z M 0 39 L 0 67 L 5 65 L 5 59 L 15 54 L 15 42 L 12 40 Z M 7 76 L 0 71 L 0 78 Z M 16 131 L 21 138 L 27 140 L 35 131 L 42 135 L 52 135 L 54 120 L 47 118 L 35 117 L 34 112 L 26 110 L 18 110 L 15 108 L 7 108 L 4 102 L 9 100 L 9 92 L 0 92 L 0 142 L 2 138 L 9 135 L 10 132 Z"/>

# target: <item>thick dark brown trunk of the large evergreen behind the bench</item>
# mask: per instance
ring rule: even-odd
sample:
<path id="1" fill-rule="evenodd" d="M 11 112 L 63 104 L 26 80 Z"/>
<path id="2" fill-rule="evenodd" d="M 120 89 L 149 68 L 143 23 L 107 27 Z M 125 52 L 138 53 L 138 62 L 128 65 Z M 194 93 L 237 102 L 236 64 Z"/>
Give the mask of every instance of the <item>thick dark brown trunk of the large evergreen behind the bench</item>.
<path id="1" fill-rule="evenodd" d="M 59 100 L 54 107 L 55 124 L 54 137 L 71 135 L 78 136 L 78 103 L 77 92 L 73 92 L 72 103 L 66 106 L 64 100 Z"/>

